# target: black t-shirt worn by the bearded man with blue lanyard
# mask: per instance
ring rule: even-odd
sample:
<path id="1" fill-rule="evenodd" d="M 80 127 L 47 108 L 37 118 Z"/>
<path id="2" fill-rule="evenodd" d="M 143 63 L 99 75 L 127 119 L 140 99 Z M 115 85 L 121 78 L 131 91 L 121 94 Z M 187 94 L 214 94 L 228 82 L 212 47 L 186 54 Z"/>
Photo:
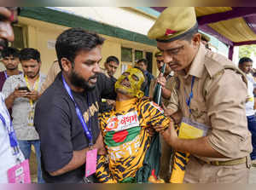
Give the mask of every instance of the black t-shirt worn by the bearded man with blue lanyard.
<path id="1" fill-rule="evenodd" d="M 95 89 L 83 93 L 73 92 L 73 98 L 84 115 L 87 126 L 90 126 L 94 143 L 100 132 L 98 127 L 100 97 L 113 100 L 116 97 L 113 81 L 104 74 L 99 74 Z M 73 158 L 73 151 L 89 147 L 74 103 L 62 83 L 61 72 L 38 100 L 34 124 L 41 141 L 44 180 L 58 183 L 81 181 L 84 176 L 84 165 L 61 176 L 49 175 L 49 172 L 60 170 L 68 164 Z"/>

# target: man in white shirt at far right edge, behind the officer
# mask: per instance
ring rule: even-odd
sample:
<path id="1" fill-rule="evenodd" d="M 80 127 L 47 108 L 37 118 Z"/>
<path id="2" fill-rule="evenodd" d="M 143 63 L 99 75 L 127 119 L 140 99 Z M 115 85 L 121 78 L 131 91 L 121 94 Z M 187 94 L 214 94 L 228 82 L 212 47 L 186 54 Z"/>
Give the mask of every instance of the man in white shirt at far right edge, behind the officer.
<path id="1" fill-rule="evenodd" d="M 253 68 L 253 60 L 248 57 L 242 57 L 239 60 L 239 68 L 242 72 L 247 75 L 247 101 L 246 101 L 246 113 L 247 113 L 247 124 L 248 129 L 252 133 L 252 144 L 253 152 L 250 154 L 252 159 L 252 164 L 256 167 L 256 117 L 254 114 L 254 95 L 253 90 L 256 88 L 256 83 L 254 82 L 251 70 Z"/>

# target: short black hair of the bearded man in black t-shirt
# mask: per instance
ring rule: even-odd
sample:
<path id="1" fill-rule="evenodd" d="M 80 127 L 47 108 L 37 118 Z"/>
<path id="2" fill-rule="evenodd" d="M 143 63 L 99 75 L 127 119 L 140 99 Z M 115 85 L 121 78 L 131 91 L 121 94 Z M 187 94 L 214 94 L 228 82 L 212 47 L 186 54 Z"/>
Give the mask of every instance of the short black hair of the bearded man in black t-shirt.
<path id="1" fill-rule="evenodd" d="M 58 57 L 61 70 L 61 59 L 67 58 L 72 64 L 76 55 L 81 50 L 91 50 L 97 45 L 104 43 L 104 38 L 93 32 L 87 32 L 82 28 L 71 28 L 62 32 L 55 44 L 55 50 Z"/>

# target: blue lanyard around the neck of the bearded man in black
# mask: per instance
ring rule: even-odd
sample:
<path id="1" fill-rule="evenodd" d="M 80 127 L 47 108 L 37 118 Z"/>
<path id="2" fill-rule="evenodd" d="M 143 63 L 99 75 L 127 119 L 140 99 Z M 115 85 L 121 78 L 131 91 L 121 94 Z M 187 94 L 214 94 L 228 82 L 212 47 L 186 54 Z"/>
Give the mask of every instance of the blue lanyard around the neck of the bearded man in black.
<path id="1" fill-rule="evenodd" d="M 75 108 L 76 108 L 76 112 L 77 112 L 77 115 L 79 117 L 79 121 L 81 122 L 82 126 L 83 126 L 83 129 L 84 129 L 84 134 L 86 135 L 86 137 L 88 138 L 88 140 L 90 141 L 89 143 L 89 146 L 92 146 L 93 143 L 92 143 L 92 135 L 91 135 L 91 132 L 90 130 L 88 129 L 87 127 L 87 124 L 85 123 L 84 121 L 84 117 L 83 117 L 83 114 L 82 112 L 80 111 L 76 101 L 74 101 L 73 99 L 73 95 L 72 95 L 72 91 L 70 89 L 70 87 L 67 85 L 67 82 L 65 81 L 65 78 L 63 77 L 63 75 L 61 75 L 62 77 L 62 82 L 64 84 L 64 87 L 65 89 L 67 90 L 67 94 L 69 95 L 69 97 L 73 100 L 73 103 L 75 105 Z M 87 99 L 87 103 L 88 103 L 88 107 L 89 107 L 89 102 L 88 102 L 88 99 Z M 89 125 L 90 125 L 90 118 L 89 118 Z"/>

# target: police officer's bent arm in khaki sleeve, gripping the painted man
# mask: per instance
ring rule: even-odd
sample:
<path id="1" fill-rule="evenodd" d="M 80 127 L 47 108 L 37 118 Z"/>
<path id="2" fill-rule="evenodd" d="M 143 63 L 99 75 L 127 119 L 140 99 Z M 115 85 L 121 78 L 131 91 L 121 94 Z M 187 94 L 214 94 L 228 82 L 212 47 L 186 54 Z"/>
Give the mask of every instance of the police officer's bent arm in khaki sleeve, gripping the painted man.
<path id="1" fill-rule="evenodd" d="M 168 144 L 177 151 L 210 158 L 241 158 L 250 149 L 245 116 L 246 84 L 231 70 L 212 79 L 207 89 L 207 117 L 212 130 L 207 136 L 185 140 L 177 138 L 173 124 L 161 131 Z M 237 145 L 240 145 L 237 147 Z M 243 151 L 241 151 L 243 150 Z"/>

